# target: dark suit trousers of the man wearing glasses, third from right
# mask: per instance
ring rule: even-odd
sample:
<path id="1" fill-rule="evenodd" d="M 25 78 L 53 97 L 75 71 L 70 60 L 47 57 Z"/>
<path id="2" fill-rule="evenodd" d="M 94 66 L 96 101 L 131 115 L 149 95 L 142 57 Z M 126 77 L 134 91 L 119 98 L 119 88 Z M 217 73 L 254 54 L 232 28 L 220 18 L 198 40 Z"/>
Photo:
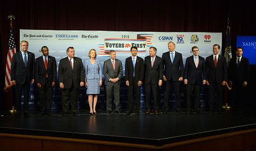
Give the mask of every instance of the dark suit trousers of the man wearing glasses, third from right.
<path id="1" fill-rule="evenodd" d="M 194 96 L 194 109 L 200 108 L 200 84 L 188 84 L 187 85 L 187 110 L 191 110 L 191 99 Z"/>

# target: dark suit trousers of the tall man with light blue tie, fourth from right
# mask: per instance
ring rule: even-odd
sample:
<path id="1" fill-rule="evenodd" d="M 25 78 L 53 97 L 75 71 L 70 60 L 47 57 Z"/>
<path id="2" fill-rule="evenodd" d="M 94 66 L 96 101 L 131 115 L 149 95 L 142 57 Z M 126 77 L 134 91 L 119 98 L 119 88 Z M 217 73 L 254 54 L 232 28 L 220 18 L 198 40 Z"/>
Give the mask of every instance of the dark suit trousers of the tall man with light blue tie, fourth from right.
<path id="1" fill-rule="evenodd" d="M 180 82 L 179 81 L 173 81 L 173 80 L 167 80 L 166 81 L 166 89 L 165 89 L 165 94 L 164 94 L 164 99 L 163 99 L 163 108 L 168 109 L 169 105 L 169 99 L 170 99 L 170 94 L 171 90 L 174 91 L 175 95 L 175 103 L 176 103 L 176 109 L 180 109 Z"/>

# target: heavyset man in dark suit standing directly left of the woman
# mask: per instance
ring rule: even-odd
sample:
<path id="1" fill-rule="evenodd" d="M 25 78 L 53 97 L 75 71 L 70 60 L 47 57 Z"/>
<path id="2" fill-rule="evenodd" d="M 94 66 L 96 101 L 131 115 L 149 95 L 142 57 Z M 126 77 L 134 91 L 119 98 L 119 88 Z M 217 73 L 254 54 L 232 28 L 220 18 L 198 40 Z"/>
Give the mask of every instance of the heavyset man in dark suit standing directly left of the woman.
<path id="1" fill-rule="evenodd" d="M 73 47 L 67 48 L 67 57 L 59 63 L 59 83 L 62 88 L 62 110 L 64 116 L 68 114 L 71 103 L 73 115 L 77 113 L 78 90 L 85 85 L 85 69 L 81 58 L 75 57 Z"/>

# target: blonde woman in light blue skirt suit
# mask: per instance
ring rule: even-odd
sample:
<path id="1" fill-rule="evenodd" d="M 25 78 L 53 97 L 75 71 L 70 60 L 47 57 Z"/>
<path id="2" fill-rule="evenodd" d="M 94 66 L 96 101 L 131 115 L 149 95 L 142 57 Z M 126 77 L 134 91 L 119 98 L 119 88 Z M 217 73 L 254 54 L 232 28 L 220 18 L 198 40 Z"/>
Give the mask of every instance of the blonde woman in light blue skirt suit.
<path id="1" fill-rule="evenodd" d="M 85 61 L 85 87 L 90 107 L 90 114 L 96 114 L 97 95 L 102 85 L 102 71 L 99 60 L 96 60 L 96 50 L 89 51 L 89 60 Z"/>

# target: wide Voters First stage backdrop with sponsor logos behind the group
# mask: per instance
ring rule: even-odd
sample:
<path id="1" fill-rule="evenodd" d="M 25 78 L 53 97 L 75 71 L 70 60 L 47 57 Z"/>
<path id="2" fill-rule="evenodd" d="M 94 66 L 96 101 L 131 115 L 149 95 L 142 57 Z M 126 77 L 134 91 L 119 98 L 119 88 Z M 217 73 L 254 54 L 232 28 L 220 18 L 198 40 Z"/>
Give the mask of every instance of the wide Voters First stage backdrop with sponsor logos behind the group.
<path id="1" fill-rule="evenodd" d="M 130 56 L 130 47 L 138 47 L 138 56 L 144 58 L 149 55 L 149 47 L 157 48 L 157 55 L 162 57 L 163 52 L 168 51 L 167 43 L 175 42 L 176 51 L 183 54 L 183 62 L 191 56 L 191 47 L 199 47 L 200 56 L 206 57 L 212 54 L 213 44 L 221 46 L 221 33 L 184 33 L 184 32 L 128 32 L 128 31 L 60 31 L 60 30 L 31 30 L 20 29 L 20 41 L 29 42 L 28 51 L 35 53 L 36 58 L 41 56 L 39 52 L 43 45 L 49 48 L 49 55 L 55 56 L 57 67 L 59 60 L 67 56 L 67 47 L 75 48 L 75 56 L 83 60 L 89 59 L 88 52 L 96 49 L 97 59 L 101 61 L 101 68 L 105 60 L 109 59 L 109 50 L 117 51 L 117 58 L 122 61 L 125 70 L 125 58 Z M 221 54 L 221 52 L 220 52 Z M 123 71 L 125 73 L 125 71 Z M 125 76 L 123 74 L 123 76 Z M 35 85 L 31 85 L 30 109 L 38 108 L 38 95 Z M 143 88 L 142 88 L 143 89 Z M 128 93 L 122 78 L 120 100 L 122 108 L 128 103 Z M 161 94 L 161 102 L 162 102 Z M 79 109 L 88 108 L 86 88 L 80 88 Z M 105 107 L 105 87 L 101 87 L 101 95 L 98 98 L 99 108 Z M 170 100 L 171 102 L 171 100 Z M 141 107 L 144 107 L 144 91 L 141 94 Z M 59 83 L 54 88 L 54 102 L 52 109 L 61 109 L 61 90 Z"/>

